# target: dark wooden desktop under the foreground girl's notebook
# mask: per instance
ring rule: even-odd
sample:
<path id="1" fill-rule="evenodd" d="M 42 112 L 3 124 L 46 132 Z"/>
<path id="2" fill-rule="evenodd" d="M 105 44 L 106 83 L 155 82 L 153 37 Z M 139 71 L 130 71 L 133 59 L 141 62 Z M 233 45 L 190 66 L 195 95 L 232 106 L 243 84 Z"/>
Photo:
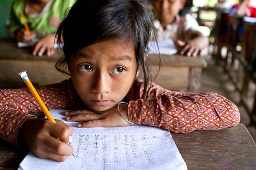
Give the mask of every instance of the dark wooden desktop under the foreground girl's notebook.
<path id="1" fill-rule="evenodd" d="M 172 133 L 188 170 L 255 170 L 256 145 L 245 125 L 189 134 Z M 28 149 L 0 140 L 0 170 L 14 170 Z"/>

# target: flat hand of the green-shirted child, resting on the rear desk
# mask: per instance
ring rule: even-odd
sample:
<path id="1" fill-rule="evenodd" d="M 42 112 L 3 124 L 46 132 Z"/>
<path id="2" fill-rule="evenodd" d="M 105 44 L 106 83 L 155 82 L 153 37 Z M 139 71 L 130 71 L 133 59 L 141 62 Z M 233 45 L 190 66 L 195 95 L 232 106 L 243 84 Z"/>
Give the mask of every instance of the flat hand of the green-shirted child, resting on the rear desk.
<path id="1" fill-rule="evenodd" d="M 42 56 L 44 52 L 46 55 L 51 56 L 54 54 L 54 38 L 55 34 L 46 35 L 39 40 L 33 50 L 33 55 Z"/>

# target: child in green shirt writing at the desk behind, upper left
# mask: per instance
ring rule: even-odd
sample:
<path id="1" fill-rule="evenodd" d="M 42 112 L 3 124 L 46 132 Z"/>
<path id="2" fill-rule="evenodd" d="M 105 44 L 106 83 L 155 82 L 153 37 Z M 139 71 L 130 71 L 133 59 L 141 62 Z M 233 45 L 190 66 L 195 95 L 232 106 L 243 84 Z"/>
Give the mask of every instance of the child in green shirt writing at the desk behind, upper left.
<path id="1" fill-rule="evenodd" d="M 33 49 L 33 55 L 41 56 L 46 52 L 54 53 L 54 37 L 65 12 L 75 0 L 14 0 L 10 18 L 10 32 L 14 32 L 17 41 L 29 42 L 40 38 Z M 23 12 L 31 35 L 26 32 L 20 11 Z"/>

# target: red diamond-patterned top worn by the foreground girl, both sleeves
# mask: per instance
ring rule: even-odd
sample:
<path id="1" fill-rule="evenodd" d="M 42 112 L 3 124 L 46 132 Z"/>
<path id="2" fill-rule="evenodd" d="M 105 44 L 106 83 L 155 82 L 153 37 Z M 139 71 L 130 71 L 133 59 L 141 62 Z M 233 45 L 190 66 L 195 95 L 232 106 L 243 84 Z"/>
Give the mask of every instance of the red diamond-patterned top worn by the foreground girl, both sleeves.
<path id="1" fill-rule="evenodd" d="M 215 130 L 237 125 L 240 115 L 236 105 L 214 92 L 191 93 L 166 90 L 152 83 L 143 100 L 143 81 L 135 80 L 127 94 L 128 119 L 176 133 Z M 44 85 L 36 90 L 48 109 L 84 106 L 71 79 Z M 28 88 L 0 90 L 0 138 L 17 145 L 20 126 L 30 112 L 41 108 Z"/>

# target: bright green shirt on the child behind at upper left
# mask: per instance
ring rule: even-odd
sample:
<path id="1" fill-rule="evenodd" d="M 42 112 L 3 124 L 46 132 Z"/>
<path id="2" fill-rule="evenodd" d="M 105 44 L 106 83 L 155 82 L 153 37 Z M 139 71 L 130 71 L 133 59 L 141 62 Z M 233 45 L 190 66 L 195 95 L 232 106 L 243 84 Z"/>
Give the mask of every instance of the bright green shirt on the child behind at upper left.
<path id="1" fill-rule="evenodd" d="M 28 27 L 31 31 L 36 32 L 37 37 L 42 37 L 57 31 L 59 23 L 67 16 L 68 10 L 76 0 L 50 0 L 50 6 L 44 10 L 41 16 L 28 16 L 26 14 L 27 0 L 14 0 L 10 18 L 10 32 L 19 28 L 24 28 L 20 18 L 20 10 L 23 12 Z M 49 4 L 48 4 L 49 5 Z"/>

